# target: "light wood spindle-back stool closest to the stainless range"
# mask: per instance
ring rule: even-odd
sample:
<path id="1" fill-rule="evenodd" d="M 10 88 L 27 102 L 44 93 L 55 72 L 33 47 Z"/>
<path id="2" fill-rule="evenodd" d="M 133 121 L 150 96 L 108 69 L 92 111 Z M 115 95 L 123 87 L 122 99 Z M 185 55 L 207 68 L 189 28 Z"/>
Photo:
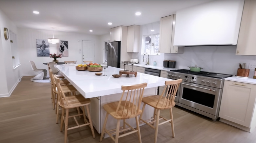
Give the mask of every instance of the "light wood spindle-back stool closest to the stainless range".
<path id="1" fill-rule="evenodd" d="M 158 135 L 158 126 L 162 125 L 164 123 L 170 122 L 172 126 L 172 137 L 175 137 L 174 134 L 174 123 L 173 123 L 173 115 L 172 115 L 172 107 L 175 106 L 175 95 L 177 93 L 177 90 L 182 82 L 182 79 L 173 80 L 173 81 L 165 81 L 165 88 L 161 95 L 152 95 L 142 98 L 143 107 L 142 107 L 142 113 L 139 116 L 139 120 L 143 121 L 153 129 L 155 129 L 155 141 L 157 142 L 157 135 Z M 165 94 L 165 96 L 164 96 Z M 145 105 L 149 105 L 154 108 L 154 115 L 152 119 L 143 120 L 141 119 L 143 111 L 145 109 Z M 166 119 L 162 116 L 160 116 L 160 110 L 163 109 L 169 109 L 170 110 L 170 119 Z M 159 123 L 159 120 L 164 119 L 165 121 Z M 148 122 L 150 121 L 150 122 Z M 156 123 L 156 125 L 154 125 Z"/>

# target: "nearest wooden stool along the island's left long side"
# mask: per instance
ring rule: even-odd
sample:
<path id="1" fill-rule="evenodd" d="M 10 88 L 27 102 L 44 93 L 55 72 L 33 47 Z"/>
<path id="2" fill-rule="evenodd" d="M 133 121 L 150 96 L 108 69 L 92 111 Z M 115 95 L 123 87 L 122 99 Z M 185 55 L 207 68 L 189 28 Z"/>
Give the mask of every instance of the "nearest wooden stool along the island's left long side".
<path id="1" fill-rule="evenodd" d="M 57 78 L 56 75 L 54 75 L 54 79 L 55 79 L 57 89 L 58 89 L 58 96 L 59 96 L 58 104 L 59 104 L 59 106 L 62 107 L 60 132 L 62 132 L 63 122 L 65 123 L 64 143 L 67 142 L 68 130 L 75 129 L 75 128 L 80 128 L 80 127 L 87 126 L 87 125 L 91 128 L 93 138 L 95 138 L 93 124 L 92 124 L 92 120 L 91 120 L 91 115 L 90 115 L 89 107 L 88 107 L 88 105 L 91 103 L 91 100 L 84 98 L 81 94 L 66 97 L 65 94 L 64 94 L 63 88 L 60 85 L 59 78 Z M 69 109 L 71 109 L 71 108 L 78 108 L 79 109 L 79 107 L 83 111 L 82 114 L 78 113 L 76 115 L 69 116 Z M 86 107 L 86 111 L 87 111 L 89 121 L 85 117 L 84 107 Z M 66 110 L 66 113 L 64 113 L 65 110 Z M 81 116 L 81 115 L 83 115 L 85 123 L 79 125 L 76 117 Z M 75 119 L 76 126 L 68 128 L 68 119 L 72 118 L 72 117 Z"/>

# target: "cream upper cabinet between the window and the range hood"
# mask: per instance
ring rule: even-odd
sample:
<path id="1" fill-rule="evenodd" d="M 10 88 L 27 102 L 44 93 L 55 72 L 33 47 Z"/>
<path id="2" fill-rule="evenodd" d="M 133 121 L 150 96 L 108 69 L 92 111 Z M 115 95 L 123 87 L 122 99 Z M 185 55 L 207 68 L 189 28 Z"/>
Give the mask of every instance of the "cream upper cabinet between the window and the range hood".
<path id="1" fill-rule="evenodd" d="M 176 14 L 160 20 L 159 53 L 183 53 L 183 47 L 173 46 Z"/>

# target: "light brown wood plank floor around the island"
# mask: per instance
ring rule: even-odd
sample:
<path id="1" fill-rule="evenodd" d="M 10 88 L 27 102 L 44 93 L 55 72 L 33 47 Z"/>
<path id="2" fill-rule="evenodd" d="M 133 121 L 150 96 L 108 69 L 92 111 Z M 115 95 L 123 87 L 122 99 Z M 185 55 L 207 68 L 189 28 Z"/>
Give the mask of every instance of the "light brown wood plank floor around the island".
<path id="1" fill-rule="evenodd" d="M 50 98 L 50 83 L 35 83 L 32 76 L 22 77 L 10 97 L 0 98 L 0 143 L 63 143 L 64 131 L 55 123 L 55 110 Z M 256 131 L 248 133 L 220 121 L 212 121 L 180 107 L 173 109 L 175 138 L 170 124 L 159 127 L 158 143 L 256 143 Z M 169 118 L 168 111 L 161 114 Z M 70 124 L 73 124 L 71 121 Z M 154 130 L 140 127 L 142 142 L 154 142 Z M 96 132 L 95 132 L 96 133 Z M 68 131 L 70 143 L 98 143 L 89 127 Z M 111 138 L 102 143 L 114 142 Z M 138 142 L 137 134 L 119 139 L 120 143 Z"/>

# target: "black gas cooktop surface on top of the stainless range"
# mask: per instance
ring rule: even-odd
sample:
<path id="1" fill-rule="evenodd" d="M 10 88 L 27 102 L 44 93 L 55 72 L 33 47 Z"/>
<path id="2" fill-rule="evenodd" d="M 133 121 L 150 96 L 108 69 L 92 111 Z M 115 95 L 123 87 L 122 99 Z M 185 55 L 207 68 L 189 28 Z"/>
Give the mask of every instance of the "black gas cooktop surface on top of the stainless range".
<path id="1" fill-rule="evenodd" d="M 200 76 L 207 76 L 207 77 L 214 77 L 214 78 L 226 78 L 231 77 L 233 75 L 230 74 L 222 74 L 222 73 L 215 73 L 215 72 L 207 72 L 207 71 L 190 71 L 186 69 L 180 69 L 180 70 L 170 70 L 174 72 L 180 72 L 180 73 L 186 73 L 186 74 L 192 74 L 192 75 L 200 75 Z"/>

